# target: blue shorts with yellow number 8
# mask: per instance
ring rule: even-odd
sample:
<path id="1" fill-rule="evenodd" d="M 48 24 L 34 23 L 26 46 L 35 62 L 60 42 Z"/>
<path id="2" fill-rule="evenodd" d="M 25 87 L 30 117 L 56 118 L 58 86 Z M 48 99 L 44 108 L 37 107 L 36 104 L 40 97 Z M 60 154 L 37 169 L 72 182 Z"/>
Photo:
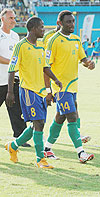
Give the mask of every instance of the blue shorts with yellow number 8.
<path id="1" fill-rule="evenodd" d="M 33 120 L 44 120 L 46 122 L 46 98 L 21 87 L 19 88 L 19 98 L 25 122 Z"/>

